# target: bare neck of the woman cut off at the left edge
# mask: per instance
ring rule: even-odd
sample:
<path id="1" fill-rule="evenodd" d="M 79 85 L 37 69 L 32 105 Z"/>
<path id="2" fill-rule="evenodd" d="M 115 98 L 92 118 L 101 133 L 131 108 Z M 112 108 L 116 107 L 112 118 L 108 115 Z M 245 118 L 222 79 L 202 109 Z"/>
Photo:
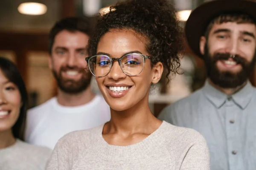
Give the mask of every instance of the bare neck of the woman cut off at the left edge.
<path id="1" fill-rule="evenodd" d="M 9 147 L 15 144 L 15 142 L 16 142 L 16 139 L 13 136 L 11 129 L 0 132 L 0 149 Z"/>

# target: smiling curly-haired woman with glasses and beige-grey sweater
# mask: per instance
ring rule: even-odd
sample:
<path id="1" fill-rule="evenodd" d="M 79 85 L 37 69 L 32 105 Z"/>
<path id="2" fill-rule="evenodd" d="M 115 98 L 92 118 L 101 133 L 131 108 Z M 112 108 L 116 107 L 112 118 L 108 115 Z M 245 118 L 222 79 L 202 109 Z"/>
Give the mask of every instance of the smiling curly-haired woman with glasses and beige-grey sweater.
<path id="1" fill-rule="evenodd" d="M 60 139 L 48 170 L 209 170 L 204 138 L 156 119 L 148 105 L 163 67 L 174 74 L 180 64 L 174 8 L 166 0 L 128 0 L 110 9 L 99 18 L 86 61 L 111 120 Z"/>

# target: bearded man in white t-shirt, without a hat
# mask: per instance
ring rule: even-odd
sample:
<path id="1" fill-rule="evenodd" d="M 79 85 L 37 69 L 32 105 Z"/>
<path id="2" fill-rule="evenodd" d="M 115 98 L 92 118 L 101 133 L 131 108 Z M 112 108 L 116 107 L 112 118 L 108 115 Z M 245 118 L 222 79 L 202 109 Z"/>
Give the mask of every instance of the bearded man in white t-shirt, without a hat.
<path id="1" fill-rule="evenodd" d="M 58 94 L 29 110 L 26 142 L 53 149 L 65 134 L 110 120 L 108 104 L 90 88 L 92 74 L 85 57 L 91 34 L 87 17 L 64 18 L 51 29 L 49 68 L 57 81 Z"/>

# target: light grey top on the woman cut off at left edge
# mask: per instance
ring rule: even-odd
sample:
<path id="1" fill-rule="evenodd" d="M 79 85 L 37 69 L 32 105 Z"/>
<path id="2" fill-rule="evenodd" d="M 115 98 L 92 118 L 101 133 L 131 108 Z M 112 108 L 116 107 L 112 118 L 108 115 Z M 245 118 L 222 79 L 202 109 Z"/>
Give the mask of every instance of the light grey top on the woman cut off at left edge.
<path id="1" fill-rule="evenodd" d="M 0 149 L 0 170 L 44 170 L 52 150 L 16 139 L 15 144 Z"/>

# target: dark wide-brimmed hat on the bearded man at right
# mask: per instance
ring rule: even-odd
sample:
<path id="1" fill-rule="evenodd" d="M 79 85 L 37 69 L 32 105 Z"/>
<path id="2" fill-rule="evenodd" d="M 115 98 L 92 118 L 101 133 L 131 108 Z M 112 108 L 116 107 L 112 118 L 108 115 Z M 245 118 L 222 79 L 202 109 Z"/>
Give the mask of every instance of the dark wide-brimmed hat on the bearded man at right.
<path id="1" fill-rule="evenodd" d="M 202 57 L 199 49 L 200 37 L 210 21 L 220 14 L 244 13 L 256 20 L 256 1 L 253 0 L 213 0 L 198 6 L 193 10 L 186 21 L 185 34 L 189 47 Z"/>

